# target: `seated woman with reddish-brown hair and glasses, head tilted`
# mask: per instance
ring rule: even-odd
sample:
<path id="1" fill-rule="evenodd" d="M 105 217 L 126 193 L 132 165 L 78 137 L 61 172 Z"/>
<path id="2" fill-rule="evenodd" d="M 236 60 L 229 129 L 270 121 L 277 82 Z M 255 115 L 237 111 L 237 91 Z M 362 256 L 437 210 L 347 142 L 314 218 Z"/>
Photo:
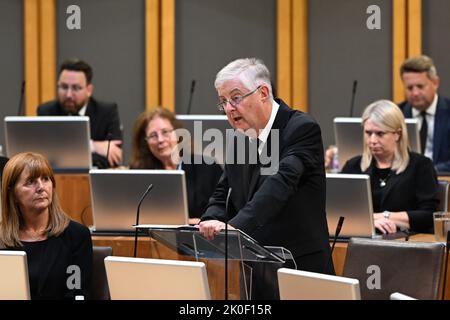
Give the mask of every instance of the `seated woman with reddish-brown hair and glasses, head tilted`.
<path id="1" fill-rule="evenodd" d="M 201 155 L 191 155 L 190 164 L 181 162 L 177 156 L 178 139 L 175 132 L 181 127 L 175 115 L 167 109 L 158 108 L 142 113 L 134 123 L 130 168 L 184 170 L 189 223 L 197 224 L 222 175 L 222 168 L 211 159 L 204 161 Z"/>

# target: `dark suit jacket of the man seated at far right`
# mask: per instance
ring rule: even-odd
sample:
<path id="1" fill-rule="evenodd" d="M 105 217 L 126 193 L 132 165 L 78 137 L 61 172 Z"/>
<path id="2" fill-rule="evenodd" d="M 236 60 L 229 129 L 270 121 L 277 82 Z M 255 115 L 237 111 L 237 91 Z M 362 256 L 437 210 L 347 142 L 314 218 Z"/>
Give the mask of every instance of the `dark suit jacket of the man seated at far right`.
<path id="1" fill-rule="evenodd" d="M 412 118 L 412 106 L 408 102 L 399 105 L 405 118 Z M 433 163 L 437 171 L 450 172 L 450 99 L 438 96 L 434 116 Z"/>

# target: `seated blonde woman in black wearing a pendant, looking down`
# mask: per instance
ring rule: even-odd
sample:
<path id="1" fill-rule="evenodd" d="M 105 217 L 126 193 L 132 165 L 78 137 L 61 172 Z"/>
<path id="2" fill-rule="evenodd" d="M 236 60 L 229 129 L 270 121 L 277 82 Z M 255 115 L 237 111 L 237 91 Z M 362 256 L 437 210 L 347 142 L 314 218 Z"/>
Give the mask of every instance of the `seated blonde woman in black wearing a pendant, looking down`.
<path id="1" fill-rule="evenodd" d="M 363 113 L 364 150 L 346 162 L 342 173 L 370 175 L 376 229 L 433 230 L 433 212 L 439 203 L 433 163 L 408 151 L 408 132 L 401 110 L 380 100 Z"/>

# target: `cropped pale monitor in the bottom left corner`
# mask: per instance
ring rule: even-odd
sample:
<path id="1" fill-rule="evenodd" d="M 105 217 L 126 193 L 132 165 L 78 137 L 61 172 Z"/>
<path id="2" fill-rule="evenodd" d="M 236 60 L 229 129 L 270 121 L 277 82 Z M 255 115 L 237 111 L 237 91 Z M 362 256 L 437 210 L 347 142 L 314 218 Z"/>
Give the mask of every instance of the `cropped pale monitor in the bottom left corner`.
<path id="1" fill-rule="evenodd" d="M 30 300 L 27 254 L 0 250 L 0 300 Z"/>

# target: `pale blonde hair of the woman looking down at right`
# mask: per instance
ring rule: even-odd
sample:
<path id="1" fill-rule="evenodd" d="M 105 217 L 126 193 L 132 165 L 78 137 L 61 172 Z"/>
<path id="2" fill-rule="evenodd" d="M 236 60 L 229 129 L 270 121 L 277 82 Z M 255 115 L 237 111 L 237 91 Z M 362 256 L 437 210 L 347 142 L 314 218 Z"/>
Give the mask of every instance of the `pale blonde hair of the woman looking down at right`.
<path id="1" fill-rule="evenodd" d="M 374 125 L 380 127 L 384 131 L 400 132 L 400 139 L 397 142 L 397 148 L 395 149 L 392 170 L 394 170 L 396 174 L 405 171 L 409 163 L 408 131 L 406 130 L 405 117 L 400 108 L 389 100 L 376 101 L 367 106 L 364 110 L 362 116 L 363 127 L 367 120 L 370 120 Z M 361 171 L 364 172 L 370 166 L 373 156 L 366 143 L 366 139 L 364 138 L 363 144 L 364 150 L 361 159 Z"/>

